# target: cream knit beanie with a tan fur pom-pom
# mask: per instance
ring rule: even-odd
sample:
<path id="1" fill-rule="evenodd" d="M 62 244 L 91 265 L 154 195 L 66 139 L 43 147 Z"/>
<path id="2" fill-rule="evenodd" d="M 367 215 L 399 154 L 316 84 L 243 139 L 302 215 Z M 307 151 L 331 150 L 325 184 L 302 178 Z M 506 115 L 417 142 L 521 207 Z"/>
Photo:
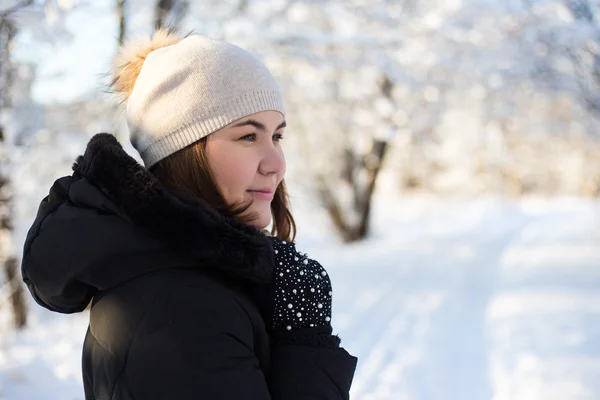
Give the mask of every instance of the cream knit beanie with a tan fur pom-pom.
<path id="1" fill-rule="evenodd" d="M 131 143 L 146 168 L 245 116 L 285 113 L 267 67 L 230 43 L 157 31 L 126 44 L 117 63 L 115 86 L 128 98 Z"/>

